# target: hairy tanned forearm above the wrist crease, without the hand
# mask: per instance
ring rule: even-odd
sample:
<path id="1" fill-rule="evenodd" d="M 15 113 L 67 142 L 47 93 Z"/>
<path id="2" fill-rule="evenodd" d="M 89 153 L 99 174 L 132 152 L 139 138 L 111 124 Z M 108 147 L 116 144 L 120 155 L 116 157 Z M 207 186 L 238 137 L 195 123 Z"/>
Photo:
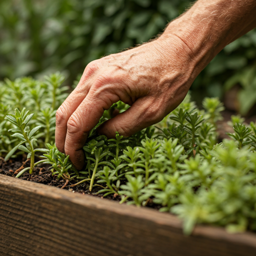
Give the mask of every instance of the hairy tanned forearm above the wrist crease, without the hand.
<path id="1" fill-rule="evenodd" d="M 160 38 L 177 36 L 202 69 L 228 43 L 256 27 L 256 0 L 198 0 Z"/>

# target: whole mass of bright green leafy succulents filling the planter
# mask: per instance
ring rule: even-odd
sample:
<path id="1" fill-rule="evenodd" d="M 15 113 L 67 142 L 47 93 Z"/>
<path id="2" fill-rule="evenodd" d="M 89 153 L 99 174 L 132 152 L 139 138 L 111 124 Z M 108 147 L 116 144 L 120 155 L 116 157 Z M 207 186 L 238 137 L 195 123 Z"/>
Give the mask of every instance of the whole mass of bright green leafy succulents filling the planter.
<path id="1" fill-rule="evenodd" d="M 247 125 L 240 116 L 232 116 L 231 139 L 217 143 L 222 103 L 205 98 L 199 110 L 187 95 L 156 125 L 129 138 L 117 132 L 107 139 L 96 128 L 113 111 L 128 108 L 117 102 L 89 132 L 83 147 L 85 167 L 77 171 L 53 144 L 54 114 L 66 89 L 61 88 L 62 80 L 55 73 L 41 81 L 6 80 L 0 87 L 1 156 L 7 160 L 27 154 L 30 160 L 29 167 L 16 170 L 17 176 L 49 166 L 55 178 L 65 181 L 63 187 L 69 184 L 112 195 L 120 203 L 157 205 L 160 211 L 173 212 L 183 220 L 186 234 L 196 223 L 225 226 L 229 232 L 256 230 L 255 123 Z"/>

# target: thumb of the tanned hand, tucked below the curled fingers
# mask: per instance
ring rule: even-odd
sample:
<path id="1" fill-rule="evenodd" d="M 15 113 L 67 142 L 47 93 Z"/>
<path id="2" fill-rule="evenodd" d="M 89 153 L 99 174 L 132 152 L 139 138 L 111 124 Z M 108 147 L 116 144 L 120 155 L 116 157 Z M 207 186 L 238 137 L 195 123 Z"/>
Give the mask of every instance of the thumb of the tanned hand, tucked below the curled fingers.
<path id="1" fill-rule="evenodd" d="M 97 131 L 108 138 L 115 138 L 116 131 L 120 135 L 130 136 L 159 122 L 163 117 L 161 113 L 151 99 L 139 98 L 126 111 L 102 123 Z"/>

